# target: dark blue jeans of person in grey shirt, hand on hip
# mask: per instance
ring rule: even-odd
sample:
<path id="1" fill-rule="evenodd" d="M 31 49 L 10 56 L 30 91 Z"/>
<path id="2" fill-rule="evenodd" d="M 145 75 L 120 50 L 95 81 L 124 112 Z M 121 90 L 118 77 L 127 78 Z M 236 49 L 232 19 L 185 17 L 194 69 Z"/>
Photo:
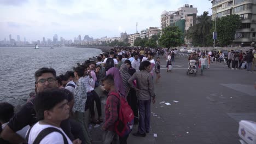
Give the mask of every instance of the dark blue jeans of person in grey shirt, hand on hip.
<path id="1" fill-rule="evenodd" d="M 139 109 L 139 125 L 138 132 L 139 134 L 145 134 L 146 131 L 149 131 L 150 128 L 150 104 L 151 99 L 149 100 L 138 100 L 138 109 Z"/>

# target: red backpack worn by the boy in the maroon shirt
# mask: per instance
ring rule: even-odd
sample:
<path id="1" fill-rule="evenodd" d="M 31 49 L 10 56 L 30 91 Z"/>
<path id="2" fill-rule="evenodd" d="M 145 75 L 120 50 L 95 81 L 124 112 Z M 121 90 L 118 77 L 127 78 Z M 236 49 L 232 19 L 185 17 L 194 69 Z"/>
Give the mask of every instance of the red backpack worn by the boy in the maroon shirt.
<path id="1" fill-rule="evenodd" d="M 121 137 L 129 135 L 134 123 L 133 111 L 125 98 L 121 97 L 119 93 L 110 92 L 109 95 L 115 95 L 119 99 L 118 121 L 115 122 L 115 132 Z"/>

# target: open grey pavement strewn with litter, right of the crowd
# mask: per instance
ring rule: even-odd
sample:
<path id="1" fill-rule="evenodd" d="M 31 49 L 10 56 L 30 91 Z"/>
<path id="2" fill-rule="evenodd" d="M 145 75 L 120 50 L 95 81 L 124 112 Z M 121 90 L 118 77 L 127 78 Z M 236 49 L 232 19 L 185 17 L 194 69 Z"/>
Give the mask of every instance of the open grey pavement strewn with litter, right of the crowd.
<path id="1" fill-rule="evenodd" d="M 188 76 L 187 58 L 183 57 L 176 57 L 174 69 L 166 73 L 166 62 L 161 58 L 162 77 L 155 85 L 151 131 L 146 137 L 130 134 L 127 142 L 239 143 L 238 122 L 241 119 L 256 121 L 255 73 L 214 63 L 203 76 Z M 161 103 L 163 101 L 171 105 Z M 133 132 L 136 130 L 135 127 Z M 91 133 L 94 143 L 100 143 L 100 127 L 92 128 Z"/>

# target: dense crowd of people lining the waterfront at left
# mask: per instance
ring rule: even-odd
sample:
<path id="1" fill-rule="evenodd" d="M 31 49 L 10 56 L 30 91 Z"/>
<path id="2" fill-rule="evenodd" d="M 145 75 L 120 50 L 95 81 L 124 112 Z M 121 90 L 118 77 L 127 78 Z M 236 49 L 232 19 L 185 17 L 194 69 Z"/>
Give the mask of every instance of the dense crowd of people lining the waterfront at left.
<path id="1" fill-rule="evenodd" d="M 59 76 L 53 68 L 38 69 L 34 73 L 36 94 L 18 112 L 14 113 L 13 105 L 0 103 L 0 143 L 92 143 L 89 122 L 102 124 L 102 143 L 127 143 L 129 135 L 115 132 L 120 103 L 112 93 L 131 107 L 134 124 L 138 124 L 132 135 L 146 136 L 150 104 L 155 103 L 153 80 L 160 78 L 160 58 L 155 62 L 153 57 L 166 51 L 120 47 Z M 102 97 L 107 97 L 104 118 Z"/>

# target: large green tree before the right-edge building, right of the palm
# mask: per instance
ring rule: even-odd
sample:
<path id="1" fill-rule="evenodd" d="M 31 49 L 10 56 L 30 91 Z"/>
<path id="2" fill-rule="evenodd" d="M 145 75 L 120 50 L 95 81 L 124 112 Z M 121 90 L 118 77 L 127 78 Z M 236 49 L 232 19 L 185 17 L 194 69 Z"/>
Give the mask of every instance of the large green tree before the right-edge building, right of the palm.
<path id="1" fill-rule="evenodd" d="M 217 43 L 220 46 L 227 46 L 234 40 L 236 30 L 241 26 L 239 15 L 227 15 L 218 18 L 216 21 Z M 212 32 L 214 31 L 215 23 L 213 23 Z"/>

